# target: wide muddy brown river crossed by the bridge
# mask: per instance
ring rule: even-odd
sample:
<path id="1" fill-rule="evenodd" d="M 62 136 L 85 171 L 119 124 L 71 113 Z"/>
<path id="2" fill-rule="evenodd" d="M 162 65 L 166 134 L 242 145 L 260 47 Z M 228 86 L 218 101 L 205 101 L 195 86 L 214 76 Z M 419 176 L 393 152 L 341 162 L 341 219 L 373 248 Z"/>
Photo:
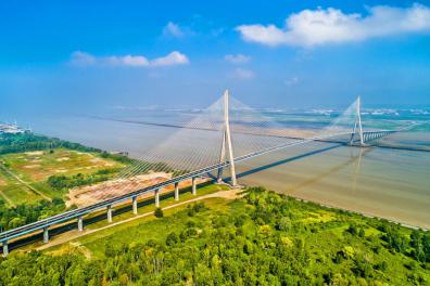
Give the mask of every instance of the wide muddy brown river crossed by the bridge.
<path id="1" fill-rule="evenodd" d="M 172 118 L 148 115 L 144 120 L 167 122 Z M 318 120 L 312 122 L 315 126 Z M 387 126 L 387 120 L 383 122 Z M 39 118 L 31 121 L 31 127 L 36 132 L 86 145 L 127 151 L 132 157 L 140 157 L 176 132 L 172 127 L 88 117 Z M 382 143 L 430 150 L 430 131 L 396 133 Z M 430 229 L 430 152 L 313 142 L 238 164 L 237 169 L 241 184 L 262 185 L 306 200 Z"/>

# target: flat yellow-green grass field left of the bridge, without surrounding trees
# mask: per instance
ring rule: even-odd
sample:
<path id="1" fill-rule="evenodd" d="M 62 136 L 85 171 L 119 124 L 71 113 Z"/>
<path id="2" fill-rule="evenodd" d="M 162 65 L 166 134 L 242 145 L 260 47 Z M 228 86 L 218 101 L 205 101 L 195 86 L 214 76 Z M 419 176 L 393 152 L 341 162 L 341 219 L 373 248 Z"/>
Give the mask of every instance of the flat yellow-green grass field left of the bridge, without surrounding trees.
<path id="1" fill-rule="evenodd" d="M 2 155 L 0 162 L 0 198 L 12 206 L 47 197 L 63 197 L 64 192 L 52 190 L 47 184 L 50 176 L 87 174 L 123 166 L 97 154 L 65 148 Z"/>

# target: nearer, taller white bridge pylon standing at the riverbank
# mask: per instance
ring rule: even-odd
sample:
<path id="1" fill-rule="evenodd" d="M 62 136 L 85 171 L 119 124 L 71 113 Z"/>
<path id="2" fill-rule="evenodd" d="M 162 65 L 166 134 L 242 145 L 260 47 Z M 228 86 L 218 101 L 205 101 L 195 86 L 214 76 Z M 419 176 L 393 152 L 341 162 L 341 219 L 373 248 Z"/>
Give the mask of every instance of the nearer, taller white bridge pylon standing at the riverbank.
<path id="1" fill-rule="evenodd" d="M 230 133 L 230 119 L 229 119 L 229 92 L 224 92 L 224 126 L 223 126 L 223 141 L 219 154 L 219 162 L 228 160 L 230 165 L 231 185 L 238 184 L 236 178 L 235 156 L 232 153 L 231 133 Z M 228 153 L 228 154 L 227 154 Z M 227 158 L 228 155 L 228 158 Z M 223 167 L 218 169 L 217 182 L 223 181 Z"/>

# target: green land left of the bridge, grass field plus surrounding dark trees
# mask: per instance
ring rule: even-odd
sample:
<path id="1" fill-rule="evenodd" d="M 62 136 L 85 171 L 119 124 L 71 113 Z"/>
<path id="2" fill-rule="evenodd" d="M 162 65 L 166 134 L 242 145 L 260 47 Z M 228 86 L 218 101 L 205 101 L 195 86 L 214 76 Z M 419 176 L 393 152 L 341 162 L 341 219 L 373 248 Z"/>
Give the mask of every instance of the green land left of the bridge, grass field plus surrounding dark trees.
<path id="1" fill-rule="evenodd" d="M 0 135 L 0 229 L 65 210 L 69 188 L 109 180 L 131 159 L 31 133 Z"/>

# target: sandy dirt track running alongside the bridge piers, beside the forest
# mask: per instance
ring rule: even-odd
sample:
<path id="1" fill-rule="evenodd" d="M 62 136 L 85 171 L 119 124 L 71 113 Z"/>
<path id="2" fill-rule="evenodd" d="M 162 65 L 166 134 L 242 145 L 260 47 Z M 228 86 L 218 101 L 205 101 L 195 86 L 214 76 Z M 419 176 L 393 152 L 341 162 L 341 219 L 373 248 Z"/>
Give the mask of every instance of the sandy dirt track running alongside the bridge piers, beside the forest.
<path id="1" fill-rule="evenodd" d="M 186 202 L 181 202 L 181 203 L 178 203 L 178 204 L 175 204 L 175 205 L 167 206 L 167 207 L 163 208 L 163 210 L 176 208 L 176 207 L 179 207 L 179 206 L 182 206 L 182 205 L 186 205 L 186 204 L 190 204 L 190 203 L 202 200 L 202 199 L 213 198 L 213 197 L 222 197 L 222 198 L 226 198 L 226 199 L 236 199 L 236 198 L 242 196 L 241 192 L 243 192 L 243 190 L 241 190 L 241 188 L 235 188 L 235 190 L 229 190 L 229 191 L 219 191 L 217 193 L 200 196 L 200 197 L 197 197 L 197 198 L 192 198 L 192 199 L 189 199 L 189 200 L 186 200 Z M 67 232 L 65 234 L 61 234 L 61 235 L 54 237 L 48 244 L 45 244 L 42 246 L 37 247 L 36 250 L 48 249 L 48 248 L 51 248 L 53 246 L 62 245 L 62 244 L 65 244 L 65 243 L 69 243 L 71 246 L 83 247 L 78 242 L 75 243 L 75 242 L 72 242 L 72 240 L 74 240 L 74 239 L 76 239 L 78 237 L 85 236 L 85 235 L 97 233 L 97 232 L 103 231 L 105 229 L 114 227 L 116 225 L 119 225 L 119 224 L 123 224 L 123 223 L 127 223 L 129 221 L 138 220 L 138 219 L 141 219 L 141 218 L 148 217 L 148 216 L 153 216 L 153 214 L 154 214 L 153 211 L 146 212 L 146 213 L 138 214 L 136 217 L 132 217 L 132 218 L 129 218 L 129 219 L 126 219 L 126 220 L 123 220 L 123 221 L 111 223 L 109 225 L 105 225 L 105 226 L 102 226 L 102 227 L 96 229 L 96 230 L 84 230 L 83 232 L 79 232 L 77 230 L 71 231 L 71 232 Z M 86 250 L 85 249 L 79 249 L 79 251 L 81 251 L 84 253 L 84 251 L 86 251 Z M 86 251 L 84 255 L 86 257 L 91 257 L 91 253 L 88 253 L 88 251 Z"/>

